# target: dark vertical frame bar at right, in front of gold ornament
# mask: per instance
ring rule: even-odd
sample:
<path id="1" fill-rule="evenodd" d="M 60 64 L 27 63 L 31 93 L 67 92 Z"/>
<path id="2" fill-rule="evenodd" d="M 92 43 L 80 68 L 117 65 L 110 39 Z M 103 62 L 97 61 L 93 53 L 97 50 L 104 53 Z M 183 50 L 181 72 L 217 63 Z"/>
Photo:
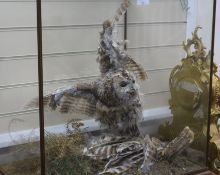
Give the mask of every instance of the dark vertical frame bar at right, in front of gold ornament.
<path id="1" fill-rule="evenodd" d="M 213 76 L 213 60 L 215 50 L 215 22 L 216 22 L 216 0 L 213 0 L 213 16 L 212 16 L 212 36 L 211 36 L 211 60 L 210 60 L 210 80 L 209 80 L 209 109 L 207 122 L 207 147 L 206 147 L 206 166 L 209 164 L 209 143 L 210 143 L 210 124 L 211 124 L 211 108 L 212 108 L 212 76 Z"/>

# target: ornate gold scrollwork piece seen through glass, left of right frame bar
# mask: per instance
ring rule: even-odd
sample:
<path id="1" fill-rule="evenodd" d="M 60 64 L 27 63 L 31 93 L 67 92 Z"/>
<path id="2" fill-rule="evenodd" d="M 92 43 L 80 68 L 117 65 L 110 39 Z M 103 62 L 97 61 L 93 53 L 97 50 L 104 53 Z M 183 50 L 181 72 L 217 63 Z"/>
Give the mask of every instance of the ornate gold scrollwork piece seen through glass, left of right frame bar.
<path id="1" fill-rule="evenodd" d="M 173 121 L 162 125 L 159 133 L 165 140 L 171 140 L 189 126 L 195 133 L 193 146 L 205 150 L 206 136 L 202 131 L 208 116 L 210 53 L 206 53 L 198 36 L 200 28 L 196 27 L 192 38 L 183 43 L 186 58 L 171 72 L 169 103 Z"/>

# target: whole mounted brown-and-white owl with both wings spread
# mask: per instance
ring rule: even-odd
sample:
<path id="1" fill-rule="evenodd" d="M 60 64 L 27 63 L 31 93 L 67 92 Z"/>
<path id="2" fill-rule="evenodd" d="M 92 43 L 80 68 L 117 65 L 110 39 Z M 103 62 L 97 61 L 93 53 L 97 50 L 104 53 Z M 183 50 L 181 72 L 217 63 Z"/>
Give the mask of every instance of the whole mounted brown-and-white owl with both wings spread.
<path id="1" fill-rule="evenodd" d="M 44 96 L 44 105 L 61 113 L 94 116 L 101 124 L 120 134 L 139 135 L 137 121 L 142 117 L 136 77 L 144 80 L 146 72 L 115 41 L 113 30 L 129 1 L 125 0 L 100 33 L 98 62 L 101 78 L 91 83 L 58 89 Z M 135 76 L 136 75 L 136 76 Z M 33 100 L 29 106 L 37 106 Z"/>

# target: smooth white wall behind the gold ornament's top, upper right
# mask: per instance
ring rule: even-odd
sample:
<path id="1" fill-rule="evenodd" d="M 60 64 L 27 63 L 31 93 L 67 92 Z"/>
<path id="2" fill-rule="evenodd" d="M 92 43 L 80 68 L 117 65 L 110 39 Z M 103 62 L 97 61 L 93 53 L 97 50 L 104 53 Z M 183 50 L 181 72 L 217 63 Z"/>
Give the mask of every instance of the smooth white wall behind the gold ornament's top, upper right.
<path id="1" fill-rule="evenodd" d="M 189 0 L 189 12 L 187 20 L 187 38 L 197 25 L 202 27 L 200 36 L 202 37 L 207 50 L 211 48 L 212 35 L 212 0 Z M 215 29 L 215 55 L 214 62 L 218 65 L 218 75 L 220 76 L 220 2 L 217 0 L 216 8 L 216 29 Z"/>

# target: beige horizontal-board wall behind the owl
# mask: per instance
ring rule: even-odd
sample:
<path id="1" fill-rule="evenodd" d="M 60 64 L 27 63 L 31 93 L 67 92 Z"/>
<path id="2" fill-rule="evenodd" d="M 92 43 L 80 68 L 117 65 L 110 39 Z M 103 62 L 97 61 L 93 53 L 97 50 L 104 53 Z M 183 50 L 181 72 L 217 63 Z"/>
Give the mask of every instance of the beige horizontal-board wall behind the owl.
<path id="1" fill-rule="evenodd" d="M 95 61 L 99 31 L 120 2 L 43 1 L 45 93 L 99 76 Z M 24 108 L 38 92 L 35 6 L 33 0 L 0 0 L 0 134 L 38 127 L 37 109 Z M 122 38 L 123 25 L 118 31 Z M 146 6 L 132 1 L 128 52 L 149 76 L 141 83 L 144 109 L 168 106 L 168 79 L 172 68 L 184 57 L 185 38 L 186 11 L 179 0 L 152 0 Z M 72 118 L 56 112 L 46 112 L 45 117 L 48 126 Z"/>

